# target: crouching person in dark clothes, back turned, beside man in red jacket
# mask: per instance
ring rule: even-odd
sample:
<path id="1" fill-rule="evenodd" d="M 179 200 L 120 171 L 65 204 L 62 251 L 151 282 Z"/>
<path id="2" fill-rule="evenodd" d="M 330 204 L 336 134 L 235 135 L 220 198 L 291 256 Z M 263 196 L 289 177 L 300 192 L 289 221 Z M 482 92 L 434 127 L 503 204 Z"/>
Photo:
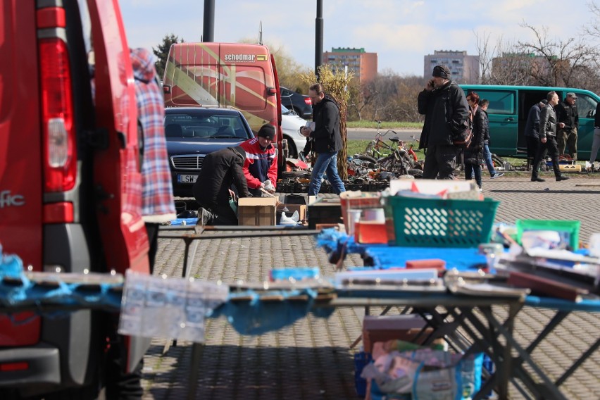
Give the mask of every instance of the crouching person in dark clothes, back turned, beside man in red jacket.
<path id="1" fill-rule="evenodd" d="M 239 197 L 250 196 L 242 170 L 244 160 L 246 151 L 240 146 L 206 154 L 192 188 L 196 201 L 204 208 L 198 215 L 199 223 L 237 225 L 237 215 L 230 206 L 230 196 L 235 198 L 235 194 L 230 188 L 234 185 Z"/>

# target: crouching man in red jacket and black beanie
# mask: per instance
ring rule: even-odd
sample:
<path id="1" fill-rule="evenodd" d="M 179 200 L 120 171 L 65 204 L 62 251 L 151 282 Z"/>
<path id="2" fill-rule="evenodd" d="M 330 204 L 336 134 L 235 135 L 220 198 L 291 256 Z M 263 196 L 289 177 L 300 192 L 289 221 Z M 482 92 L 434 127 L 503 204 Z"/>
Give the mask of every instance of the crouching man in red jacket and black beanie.
<path id="1" fill-rule="evenodd" d="M 261 126 L 257 137 L 248 139 L 240 146 L 246 151 L 244 176 L 252 196 L 261 197 L 264 189 L 275 192 L 277 184 L 277 149 L 271 144 L 275 139 L 275 127 L 270 124 Z"/>

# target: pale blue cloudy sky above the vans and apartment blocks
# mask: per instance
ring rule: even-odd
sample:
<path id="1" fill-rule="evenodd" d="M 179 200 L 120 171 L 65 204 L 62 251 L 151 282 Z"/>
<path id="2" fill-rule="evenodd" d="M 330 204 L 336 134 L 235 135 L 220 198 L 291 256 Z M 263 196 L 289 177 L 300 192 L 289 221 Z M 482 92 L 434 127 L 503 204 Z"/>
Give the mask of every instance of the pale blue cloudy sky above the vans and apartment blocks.
<path id="1" fill-rule="evenodd" d="M 323 51 L 364 48 L 377 53 L 377 70 L 423 75 L 423 57 L 435 50 L 477 55 L 478 37 L 531 41 L 527 23 L 549 39 L 579 37 L 593 23 L 589 1 L 560 0 L 323 0 Z M 173 33 L 201 42 L 203 0 L 120 0 L 130 47 L 152 47 Z M 215 42 L 258 41 L 284 49 L 297 63 L 315 65 L 317 0 L 215 0 Z"/>

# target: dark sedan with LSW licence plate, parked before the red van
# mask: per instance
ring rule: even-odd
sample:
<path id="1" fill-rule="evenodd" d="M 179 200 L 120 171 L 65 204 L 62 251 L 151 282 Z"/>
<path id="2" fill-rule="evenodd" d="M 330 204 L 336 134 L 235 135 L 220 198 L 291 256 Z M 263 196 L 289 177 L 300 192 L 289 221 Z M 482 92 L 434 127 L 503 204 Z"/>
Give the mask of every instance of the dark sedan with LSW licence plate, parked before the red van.
<path id="1" fill-rule="evenodd" d="M 204 156 L 237 146 L 254 134 L 244 115 L 235 108 L 173 107 L 165 110 L 165 136 L 173 194 L 193 197 L 192 185 Z"/>

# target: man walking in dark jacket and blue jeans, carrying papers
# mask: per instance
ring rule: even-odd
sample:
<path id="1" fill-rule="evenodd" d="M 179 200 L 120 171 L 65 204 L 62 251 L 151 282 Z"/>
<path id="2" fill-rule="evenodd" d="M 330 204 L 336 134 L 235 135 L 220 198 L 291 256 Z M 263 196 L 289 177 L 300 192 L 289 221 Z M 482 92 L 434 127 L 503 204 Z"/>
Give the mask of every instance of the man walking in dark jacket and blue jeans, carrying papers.
<path id="1" fill-rule="evenodd" d="M 308 185 L 308 195 L 318 194 L 324 173 L 327 173 L 327 180 L 336 194 L 346 192 L 344 182 L 337 173 L 337 152 L 342 150 L 339 108 L 334 99 L 325 94 L 320 83 L 308 88 L 308 96 L 313 102 L 314 127 L 302 127 L 300 133 L 313 139 L 313 151 L 317 154 L 311 183 Z"/>

